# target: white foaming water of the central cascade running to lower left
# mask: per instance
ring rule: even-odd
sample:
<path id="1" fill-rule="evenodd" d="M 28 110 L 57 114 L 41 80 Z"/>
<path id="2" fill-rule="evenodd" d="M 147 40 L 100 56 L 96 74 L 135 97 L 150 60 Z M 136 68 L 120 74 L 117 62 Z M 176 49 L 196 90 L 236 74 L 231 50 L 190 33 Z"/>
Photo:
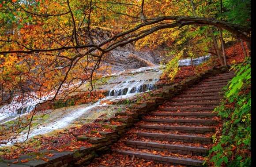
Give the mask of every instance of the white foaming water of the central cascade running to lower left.
<path id="1" fill-rule="evenodd" d="M 159 70 L 159 66 L 158 67 L 147 67 L 147 68 L 143 68 L 143 69 L 137 69 L 137 70 L 133 70 L 131 73 L 143 72 L 145 70 L 151 70 L 151 69 L 156 70 L 156 72 L 159 73 L 159 74 L 162 73 L 162 71 Z M 155 88 L 154 84 L 157 81 L 158 81 L 158 79 L 153 79 L 151 81 L 149 81 L 149 80 L 136 80 L 136 81 L 134 81 L 133 76 L 128 76 L 126 81 L 122 82 L 121 84 L 118 84 L 116 87 L 114 87 L 110 91 L 109 96 L 107 96 L 105 98 L 102 98 L 98 102 L 96 102 L 94 104 L 91 104 L 91 105 L 88 105 L 86 107 L 81 107 L 79 109 L 74 109 L 74 110 L 70 111 L 68 114 L 66 114 L 63 118 L 55 120 L 52 123 L 49 123 L 49 124 L 46 124 L 46 125 L 39 125 L 38 127 L 31 129 L 30 134 L 29 134 L 29 138 L 31 138 L 33 136 L 36 136 L 38 134 L 46 134 L 46 133 L 49 133 L 51 131 L 58 130 L 58 129 L 63 129 L 64 127 L 67 127 L 75 119 L 77 119 L 80 116 L 82 116 L 83 114 L 89 112 L 90 109 L 106 105 L 106 103 L 101 104 L 101 102 L 104 101 L 104 100 L 113 101 L 113 100 L 117 100 L 117 99 L 121 99 L 121 98 L 123 98 L 123 99 L 124 98 L 130 98 L 130 97 L 136 95 L 139 92 L 153 90 Z M 147 82 L 147 84 L 146 84 L 146 82 Z M 114 96 L 111 96 L 112 91 L 113 91 Z M 33 105 L 37 104 L 37 102 L 38 101 L 34 101 Z M 29 111 L 28 111 L 28 113 L 29 113 Z M 14 120 L 14 119 L 15 118 L 12 118 L 12 120 Z M 26 139 L 26 136 L 27 136 L 27 132 L 26 133 L 24 132 L 16 140 L 5 141 L 5 142 L 7 142 L 7 144 L 5 144 L 5 145 L 12 145 L 13 143 L 18 142 L 18 141 L 23 142 Z M 2 141 L 2 142 L 4 142 L 4 141 Z"/>

